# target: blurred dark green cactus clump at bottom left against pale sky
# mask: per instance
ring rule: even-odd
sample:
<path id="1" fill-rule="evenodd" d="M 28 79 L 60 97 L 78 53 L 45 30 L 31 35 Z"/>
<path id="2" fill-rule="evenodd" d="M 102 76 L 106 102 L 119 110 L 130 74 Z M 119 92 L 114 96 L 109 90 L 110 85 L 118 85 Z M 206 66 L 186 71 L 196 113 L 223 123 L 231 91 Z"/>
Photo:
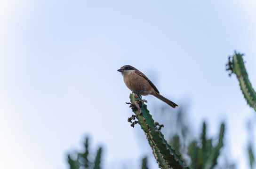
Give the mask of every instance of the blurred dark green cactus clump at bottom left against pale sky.
<path id="1" fill-rule="evenodd" d="M 95 158 L 95 161 L 89 161 L 88 160 L 88 138 L 85 139 L 85 152 L 84 153 L 78 153 L 75 154 L 76 159 L 73 160 L 70 157 L 70 154 L 68 154 L 68 163 L 70 165 L 70 169 L 101 169 L 100 168 L 100 159 L 101 159 L 101 153 L 102 153 L 102 148 L 99 147 L 98 151 L 97 151 L 97 155 Z"/>

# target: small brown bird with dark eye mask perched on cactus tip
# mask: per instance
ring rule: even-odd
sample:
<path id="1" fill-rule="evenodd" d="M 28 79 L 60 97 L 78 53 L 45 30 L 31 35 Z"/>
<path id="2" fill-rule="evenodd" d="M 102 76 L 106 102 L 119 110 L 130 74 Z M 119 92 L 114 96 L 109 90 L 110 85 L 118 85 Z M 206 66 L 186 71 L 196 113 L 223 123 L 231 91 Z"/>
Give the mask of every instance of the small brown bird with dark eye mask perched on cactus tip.
<path id="1" fill-rule="evenodd" d="M 151 94 L 173 108 L 178 107 L 176 103 L 160 95 L 156 86 L 138 69 L 130 65 L 124 65 L 117 71 L 121 72 L 124 83 L 132 92 L 139 93 L 143 96 Z"/>

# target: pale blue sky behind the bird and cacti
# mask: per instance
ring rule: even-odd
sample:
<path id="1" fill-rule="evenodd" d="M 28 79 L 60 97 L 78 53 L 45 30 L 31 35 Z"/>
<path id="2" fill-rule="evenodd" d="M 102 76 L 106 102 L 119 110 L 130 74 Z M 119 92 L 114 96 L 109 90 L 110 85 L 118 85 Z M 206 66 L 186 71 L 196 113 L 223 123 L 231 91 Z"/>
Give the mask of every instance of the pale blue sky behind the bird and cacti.
<path id="1" fill-rule="evenodd" d="M 254 0 L 1 0 L 0 168 L 67 169 L 66 154 L 88 134 L 92 150 L 104 146 L 104 169 L 138 169 L 147 152 L 140 127 L 127 122 L 130 91 L 117 72 L 126 64 L 188 104 L 195 135 L 206 120 L 216 137 L 224 121 L 225 152 L 248 168 L 256 134 L 246 123 L 255 132 L 256 115 L 225 64 L 244 53 L 256 88 L 255 8 Z M 149 110 L 162 104 L 145 99 Z"/>

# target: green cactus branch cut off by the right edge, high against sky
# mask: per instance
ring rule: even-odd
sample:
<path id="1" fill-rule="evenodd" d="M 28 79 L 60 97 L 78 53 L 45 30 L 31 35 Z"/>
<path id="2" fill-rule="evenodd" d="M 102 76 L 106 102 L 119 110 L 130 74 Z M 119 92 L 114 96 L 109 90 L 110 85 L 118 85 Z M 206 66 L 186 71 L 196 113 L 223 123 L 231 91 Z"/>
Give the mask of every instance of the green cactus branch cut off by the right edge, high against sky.
<path id="1" fill-rule="evenodd" d="M 243 54 L 235 52 L 235 54 L 232 56 L 232 61 L 230 60 L 231 57 L 229 57 L 229 61 L 226 64 L 226 70 L 231 70 L 231 73 L 229 74 L 230 76 L 232 73 L 236 74 L 244 98 L 246 99 L 248 105 L 254 108 L 256 111 L 256 92 L 253 90 L 248 79 L 248 74 L 246 72 L 242 56 Z"/>

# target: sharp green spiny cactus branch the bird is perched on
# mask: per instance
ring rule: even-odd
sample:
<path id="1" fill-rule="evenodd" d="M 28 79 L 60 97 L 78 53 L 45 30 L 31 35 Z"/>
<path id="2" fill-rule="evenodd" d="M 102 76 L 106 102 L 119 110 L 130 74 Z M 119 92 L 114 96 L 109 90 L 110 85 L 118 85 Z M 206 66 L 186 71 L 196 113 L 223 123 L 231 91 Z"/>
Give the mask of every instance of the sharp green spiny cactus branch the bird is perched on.
<path id="1" fill-rule="evenodd" d="M 176 151 L 168 145 L 163 134 L 157 128 L 152 115 L 149 114 L 145 100 L 135 93 L 130 94 L 130 107 L 135 113 L 138 123 L 146 134 L 146 138 L 152 148 L 153 154 L 161 169 L 189 169 L 184 164 L 181 156 L 176 154 Z"/>

